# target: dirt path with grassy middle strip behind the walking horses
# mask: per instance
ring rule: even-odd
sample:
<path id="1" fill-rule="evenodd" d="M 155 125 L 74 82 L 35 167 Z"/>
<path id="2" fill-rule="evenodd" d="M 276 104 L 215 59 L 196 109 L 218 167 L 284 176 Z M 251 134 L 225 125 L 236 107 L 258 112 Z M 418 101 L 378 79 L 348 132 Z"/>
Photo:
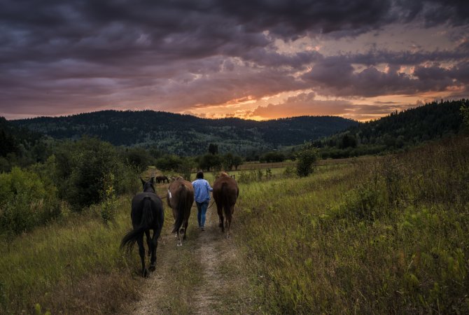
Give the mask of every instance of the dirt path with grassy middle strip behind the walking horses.
<path id="1" fill-rule="evenodd" d="M 142 280 L 141 300 L 130 306 L 130 313 L 251 313 L 242 253 L 235 239 L 226 239 L 218 228 L 215 206 L 207 211 L 205 231 L 197 228 L 197 210 L 193 208 L 188 237 L 181 247 L 169 233 L 172 218 L 166 220 L 158 244 L 157 269 Z"/>

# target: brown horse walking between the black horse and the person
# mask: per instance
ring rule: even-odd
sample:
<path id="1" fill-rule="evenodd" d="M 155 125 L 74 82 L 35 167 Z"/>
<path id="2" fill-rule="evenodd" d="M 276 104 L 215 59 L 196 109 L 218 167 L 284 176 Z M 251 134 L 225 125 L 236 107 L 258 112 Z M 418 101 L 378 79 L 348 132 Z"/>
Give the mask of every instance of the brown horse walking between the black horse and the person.
<path id="1" fill-rule="evenodd" d="M 194 202 L 193 184 L 178 177 L 176 181 L 169 184 L 167 201 L 168 206 L 173 209 L 174 229 L 172 232 L 178 237 L 178 246 L 182 246 L 182 240 L 186 239 L 187 235 L 190 208 Z"/>

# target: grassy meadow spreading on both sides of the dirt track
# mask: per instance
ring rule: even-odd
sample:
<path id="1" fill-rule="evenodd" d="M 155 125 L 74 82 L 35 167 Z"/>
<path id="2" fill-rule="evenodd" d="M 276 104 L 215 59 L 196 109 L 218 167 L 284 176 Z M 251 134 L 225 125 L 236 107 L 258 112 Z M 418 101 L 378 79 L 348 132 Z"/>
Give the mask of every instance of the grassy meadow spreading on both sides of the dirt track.
<path id="1" fill-rule="evenodd" d="M 467 137 L 402 155 L 321 161 L 306 178 L 290 165 L 259 167 L 230 172 L 240 188 L 230 241 L 242 255 L 225 273 L 250 279 L 235 295 L 249 297 L 244 311 L 469 313 Z M 213 184 L 215 175 L 205 179 Z M 166 186 L 158 185 L 159 195 Z M 118 198 L 107 225 L 92 206 L 3 240 L 0 314 L 31 314 L 36 303 L 52 314 L 130 312 L 146 283 L 137 250 L 118 248 L 131 226 L 130 200 Z M 163 202 L 165 232 L 174 221 Z M 191 286 L 203 283 L 195 214 L 183 248 L 158 247 L 157 270 L 174 274 L 174 287 L 160 293 L 169 314 L 190 314 Z M 183 300 L 170 298 L 176 291 Z M 227 307 L 219 312 L 239 314 L 237 304 L 228 307 L 232 296 L 220 298 Z"/>

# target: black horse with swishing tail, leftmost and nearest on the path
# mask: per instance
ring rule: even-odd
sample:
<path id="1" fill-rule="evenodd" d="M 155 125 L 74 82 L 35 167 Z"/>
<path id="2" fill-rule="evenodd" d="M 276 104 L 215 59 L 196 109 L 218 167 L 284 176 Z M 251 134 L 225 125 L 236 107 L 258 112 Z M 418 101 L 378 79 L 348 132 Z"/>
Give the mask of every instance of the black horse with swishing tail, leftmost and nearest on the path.
<path id="1" fill-rule="evenodd" d="M 145 247 L 144 233 L 146 235 L 146 244 L 148 245 L 148 255 L 150 258 L 150 271 L 156 267 L 156 248 L 158 247 L 158 237 L 165 221 L 165 211 L 161 198 L 155 193 L 153 187 L 153 177 L 145 182 L 140 179 L 144 186 L 144 192 L 138 193 L 132 199 L 132 217 L 133 230 L 127 232 L 120 242 L 120 248 L 127 247 L 127 252 L 132 251 L 135 242 L 139 244 L 139 254 L 141 258 L 141 273 L 148 276 L 148 269 L 145 267 Z M 153 237 L 150 237 L 150 230 L 153 230 Z"/>

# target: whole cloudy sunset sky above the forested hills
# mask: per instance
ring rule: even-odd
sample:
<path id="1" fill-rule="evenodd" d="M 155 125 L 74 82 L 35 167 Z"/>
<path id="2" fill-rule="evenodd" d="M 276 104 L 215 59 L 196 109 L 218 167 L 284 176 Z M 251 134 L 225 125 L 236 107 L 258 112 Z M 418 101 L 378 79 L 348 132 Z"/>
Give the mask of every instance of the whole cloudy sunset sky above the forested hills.
<path id="1" fill-rule="evenodd" d="M 370 120 L 469 97 L 454 0 L 0 0 L 0 116 Z"/>

